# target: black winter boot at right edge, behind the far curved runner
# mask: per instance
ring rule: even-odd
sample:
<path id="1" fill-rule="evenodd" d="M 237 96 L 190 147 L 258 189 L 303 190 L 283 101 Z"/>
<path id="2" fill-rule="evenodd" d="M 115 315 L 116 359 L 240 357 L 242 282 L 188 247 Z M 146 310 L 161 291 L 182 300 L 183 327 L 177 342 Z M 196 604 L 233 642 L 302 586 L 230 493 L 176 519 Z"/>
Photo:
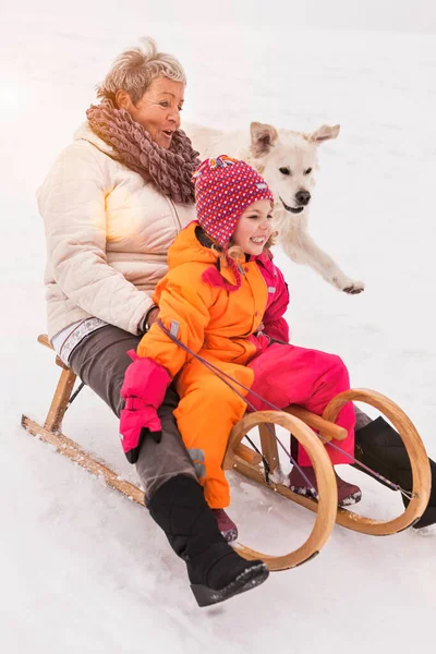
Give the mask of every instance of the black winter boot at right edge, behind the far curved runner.
<path id="1" fill-rule="evenodd" d="M 355 458 L 378 474 L 400 485 L 404 491 L 412 491 L 412 469 L 409 455 L 400 435 L 382 416 L 355 432 Z M 436 523 L 436 463 L 432 459 L 428 461 L 432 471 L 432 491 L 427 508 L 413 525 L 414 529 Z M 407 507 L 409 499 L 403 495 L 401 497 Z"/>

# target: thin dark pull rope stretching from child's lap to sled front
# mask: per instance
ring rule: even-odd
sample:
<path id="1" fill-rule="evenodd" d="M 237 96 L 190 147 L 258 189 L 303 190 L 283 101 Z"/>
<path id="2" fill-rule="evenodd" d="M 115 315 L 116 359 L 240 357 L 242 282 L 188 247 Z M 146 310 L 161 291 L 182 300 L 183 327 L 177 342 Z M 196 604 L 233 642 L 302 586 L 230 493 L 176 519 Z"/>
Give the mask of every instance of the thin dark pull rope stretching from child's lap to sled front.
<path id="1" fill-rule="evenodd" d="M 257 392 L 255 392 L 251 388 L 247 388 L 241 382 L 239 382 L 238 379 L 234 379 L 231 375 L 229 375 L 228 373 L 225 373 L 225 371 L 221 371 L 218 366 L 216 366 L 215 364 L 210 363 L 209 361 L 207 361 L 206 359 L 204 359 L 203 356 L 201 356 L 199 354 L 197 354 L 196 352 L 194 352 L 193 350 L 191 350 L 191 348 L 189 348 L 187 346 L 185 346 L 184 343 L 182 343 L 182 341 L 180 341 L 177 338 L 175 335 L 171 334 L 171 331 L 166 328 L 166 326 L 164 325 L 164 323 L 160 319 L 157 320 L 157 324 L 160 327 L 160 329 L 164 331 L 164 334 L 166 334 L 168 336 L 168 338 L 170 338 L 182 350 L 184 350 L 189 354 L 192 354 L 192 356 L 194 356 L 197 361 L 199 361 L 201 363 L 203 363 L 203 365 L 205 365 L 209 371 L 211 371 L 217 377 L 220 377 L 220 379 L 222 379 L 222 382 L 225 384 L 227 384 L 227 386 L 229 386 L 229 388 L 231 388 L 253 411 L 256 411 L 256 408 L 252 404 L 252 402 L 250 402 L 250 400 L 246 399 L 246 397 L 244 397 L 241 392 L 239 392 L 239 390 L 233 386 L 233 384 L 237 384 L 238 386 L 240 386 L 241 388 L 243 388 L 244 390 L 246 390 L 249 393 L 252 393 L 252 396 L 254 396 L 257 399 L 262 400 L 263 402 L 265 402 L 268 407 L 270 407 L 275 411 L 281 411 L 281 409 L 279 409 L 279 407 L 276 407 L 275 404 L 272 404 L 271 402 L 269 402 L 268 400 L 266 400 L 265 398 L 263 398 L 261 395 L 258 395 Z M 228 382 L 228 379 L 230 379 L 230 382 L 230 382 Z M 290 462 L 293 465 L 296 465 L 298 470 L 300 471 L 300 474 L 303 476 L 303 479 L 306 482 L 306 484 L 312 488 L 311 482 L 307 480 L 306 475 L 301 470 L 300 465 L 293 459 L 291 452 L 290 451 L 288 452 L 287 448 L 281 443 L 280 438 L 274 433 L 274 431 L 271 429 L 270 425 L 267 424 L 267 428 L 268 428 L 269 433 L 276 438 L 276 440 L 277 440 L 278 445 L 280 445 L 281 449 L 286 452 L 287 457 L 289 457 Z M 325 444 L 328 444 L 331 448 L 340 451 L 342 455 L 346 455 L 359 468 L 362 468 L 363 470 L 365 470 L 370 474 L 374 475 L 376 479 L 382 480 L 392 491 L 399 491 L 402 495 L 404 495 L 404 497 L 408 497 L 409 499 L 412 499 L 412 497 L 413 497 L 412 493 L 409 493 L 408 491 L 404 491 L 404 488 L 402 488 L 398 484 L 395 484 L 390 480 L 387 480 L 386 477 L 384 477 L 378 472 L 375 472 L 375 470 L 372 470 L 368 465 L 366 465 L 365 463 L 362 463 L 362 461 L 359 461 L 352 455 L 349 455 L 348 452 L 344 452 L 343 450 L 341 450 L 340 447 L 336 446 L 331 441 L 328 441 L 320 434 L 318 434 L 318 438 L 320 438 Z"/>

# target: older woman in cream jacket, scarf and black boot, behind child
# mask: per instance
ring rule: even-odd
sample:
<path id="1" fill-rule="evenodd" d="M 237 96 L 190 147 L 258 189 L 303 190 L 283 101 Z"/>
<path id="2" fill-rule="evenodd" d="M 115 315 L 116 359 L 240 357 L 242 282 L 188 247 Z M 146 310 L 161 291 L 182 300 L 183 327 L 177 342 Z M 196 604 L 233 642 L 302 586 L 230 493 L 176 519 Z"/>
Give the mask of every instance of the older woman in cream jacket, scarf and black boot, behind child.
<path id="1" fill-rule="evenodd" d="M 191 177 L 199 160 L 180 130 L 185 74 L 173 57 L 123 52 L 98 88 L 74 141 L 38 192 L 47 237 L 48 329 L 59 356 L 120 415 L 120 389 L 142 335 L 156 320 L 150 295 L 167 251 L 195 218 Z M 146 504 L 186 561 L 201 606 L 262 583 L 262 561 L 241 558 L 208 508 L 172 415 L 170 387 L 158 441 L 143 429 L 136 463 Z M 141 409 L 138 410 L 141 420 Z"/>

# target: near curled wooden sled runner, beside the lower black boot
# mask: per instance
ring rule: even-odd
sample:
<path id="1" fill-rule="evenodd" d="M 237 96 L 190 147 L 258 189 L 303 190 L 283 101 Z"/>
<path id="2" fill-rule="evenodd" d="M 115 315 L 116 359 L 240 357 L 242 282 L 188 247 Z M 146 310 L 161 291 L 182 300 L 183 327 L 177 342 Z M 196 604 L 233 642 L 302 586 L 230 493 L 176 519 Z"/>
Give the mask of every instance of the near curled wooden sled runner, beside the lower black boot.
<path id="1" fill-rule="evenodd" d="M 306 542 L 301 547 L 289 554 L 270 556 L 251 549 L 250 547 L 241 544 L 235 545 L 234 548 L 246 559 L 261 558 L 266 562 L 269 570 L 286 570 L 307 561 L 310 558 L 319 553 L 335 525 L 338 492 L 330 459 L 319 438 L 300 419 L 289 415 L 282 411 L 257 411 L 255 413 L 246 414 L 232 429 L 222 464 L 225 469 L 237 468 L 237 470 L 240 471 L 245 470 L 244 474 L 246 474 L 246 476 L 251 476 L 251 479 L 254 479 L 261 483 L 264 482 L 259 469 L 257 469 L 257 475 L 259 479 L 256 479 L 256 474 L 250 474 L 250 471 L 253 471 L 254 473 L 256 472 L 256 467 L 251 465 L 242 460 L 238 460 L 237 455 L 234 453 L 234 450 L 247 432 L 262 423 L 274 423 L 284 427 L 289 432 L 292 432 L 292 435 L 304 446 L 311 458 L 319 492 L 317 516 L 315 524 Z M 278 485 L 272 484 L 269 487 L 276 489 Z M 291 491 L 289 491 L 289 493 L 291 493 Z M 284 495 L 283 493 L 281 494 Z M 291 493 L 291 495 L 294 494 Z"/>

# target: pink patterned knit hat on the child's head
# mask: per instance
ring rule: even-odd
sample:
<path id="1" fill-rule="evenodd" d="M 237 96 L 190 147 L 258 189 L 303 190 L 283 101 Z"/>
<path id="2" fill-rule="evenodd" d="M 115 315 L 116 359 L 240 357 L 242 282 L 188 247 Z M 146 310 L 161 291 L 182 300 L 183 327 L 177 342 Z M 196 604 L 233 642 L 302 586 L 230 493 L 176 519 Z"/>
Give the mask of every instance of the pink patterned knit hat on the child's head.
<path id="1" fill-rule="evenodd" d="M 222 247 L 229 243 L 238 220 L 257 199 L 270 199 L 268 184 L 254 168 L 220 155 L 206 159 L 193 174 L 198 222 Z"/>

